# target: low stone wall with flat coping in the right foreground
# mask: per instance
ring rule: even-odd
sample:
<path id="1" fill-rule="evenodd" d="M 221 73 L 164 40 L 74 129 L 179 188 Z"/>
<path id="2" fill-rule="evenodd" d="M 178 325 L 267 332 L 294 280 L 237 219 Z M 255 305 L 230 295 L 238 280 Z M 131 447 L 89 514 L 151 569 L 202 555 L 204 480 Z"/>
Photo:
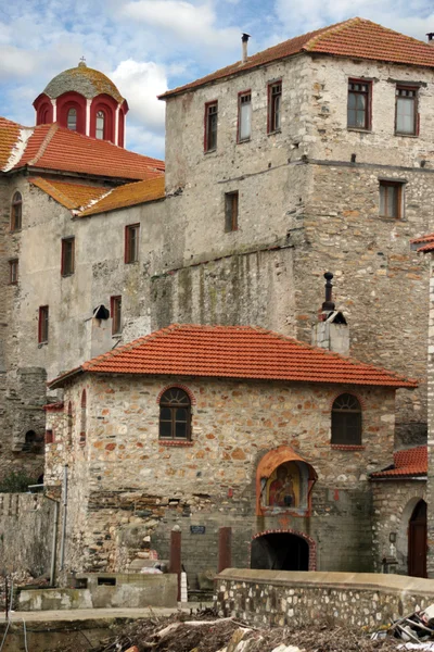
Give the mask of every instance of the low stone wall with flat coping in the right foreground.
<path id="1" fill-rule="evenodd" d="M 434 580 L 398 575 L 227 568 L 215 581 L 220 616 L 261 627 L 324 623 L 376 629 L 434 602 Z"/>

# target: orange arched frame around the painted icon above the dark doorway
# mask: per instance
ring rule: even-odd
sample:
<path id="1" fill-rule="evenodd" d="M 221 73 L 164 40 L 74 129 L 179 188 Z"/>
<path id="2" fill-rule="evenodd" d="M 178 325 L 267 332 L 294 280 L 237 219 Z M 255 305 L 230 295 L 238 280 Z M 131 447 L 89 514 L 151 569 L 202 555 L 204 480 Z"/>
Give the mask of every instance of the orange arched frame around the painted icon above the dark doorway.
<path id="1" fill-rule="evenodd" d="M 317 481 L 317 472 L 314 466 L 309 464 L 306 460 L 301 457 L 293 448 L 286 444 L 279 446 L 277 449 L 272 449 L 268 451 L 257 465 L 256 469 L 256 515 L 265 516 L 270 509 L 264 504 L 264 492 L 267 487 L 267 482 L 270 479 L 271 475 L 278 467 L 282 466 L 285 463 L 296 463 L 301 468 L 301 485 L 299 492 L 302 489 L 305 494 L 305 501 L 303 510 L 297 510 L 295 515 L 299 516 L 309 516 L 311 510 L 311 491 L 314 489 L 314 485 Z M 279 513 L 294 513 L 294 509 L 279 509 Z M 276 509 L 272 510 L 272 513 L 276 513 Z"/>

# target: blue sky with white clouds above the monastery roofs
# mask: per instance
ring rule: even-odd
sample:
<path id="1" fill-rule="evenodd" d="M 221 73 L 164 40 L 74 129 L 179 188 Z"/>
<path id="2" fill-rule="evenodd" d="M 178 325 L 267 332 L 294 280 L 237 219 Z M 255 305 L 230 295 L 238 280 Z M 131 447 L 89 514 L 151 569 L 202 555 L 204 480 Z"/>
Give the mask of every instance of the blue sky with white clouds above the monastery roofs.
<path id="1" fill-rule="evenodd" d="M 164 158 L 158 93 L 248 53 L 361 16 L 421 40 L 433 0 L 0 0 L 0 115 L 35 123 L 31 102 L 81 57 L 128 100 L 127 148 Z"/>

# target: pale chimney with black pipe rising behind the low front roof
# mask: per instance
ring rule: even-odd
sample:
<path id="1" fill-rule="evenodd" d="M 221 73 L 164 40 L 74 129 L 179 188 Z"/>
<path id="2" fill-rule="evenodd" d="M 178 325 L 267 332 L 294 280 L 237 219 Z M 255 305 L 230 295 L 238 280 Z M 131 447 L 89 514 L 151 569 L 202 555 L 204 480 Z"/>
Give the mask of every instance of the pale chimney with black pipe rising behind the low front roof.
<path id="1" fill-rule="evenodd" d="M 311 343 L 341 355 L 349 355 L 349 328 L 342 312 L 335 310 L 332 300 L 333 274 L 326 272 L 326 301 L 312 326 Z"/>

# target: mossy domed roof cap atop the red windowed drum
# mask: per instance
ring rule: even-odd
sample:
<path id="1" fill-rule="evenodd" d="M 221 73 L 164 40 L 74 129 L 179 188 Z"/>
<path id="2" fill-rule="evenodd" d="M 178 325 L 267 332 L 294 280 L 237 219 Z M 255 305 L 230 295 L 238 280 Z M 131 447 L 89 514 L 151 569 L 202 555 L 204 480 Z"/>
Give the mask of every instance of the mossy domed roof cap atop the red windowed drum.
<path id="1" fill-rule="evenodd" d="M 100 71 L 88 67 L 85 61 L 80 61 L 77 67 L 63 71 L 63 73 L 53 77 L 43 92 L 49 98 L 55 99 L 71 90 L 79 92 L 89 100 L 101 93 L 106 93 L 119 103 L 124 101 L 113 82 Z"/>

